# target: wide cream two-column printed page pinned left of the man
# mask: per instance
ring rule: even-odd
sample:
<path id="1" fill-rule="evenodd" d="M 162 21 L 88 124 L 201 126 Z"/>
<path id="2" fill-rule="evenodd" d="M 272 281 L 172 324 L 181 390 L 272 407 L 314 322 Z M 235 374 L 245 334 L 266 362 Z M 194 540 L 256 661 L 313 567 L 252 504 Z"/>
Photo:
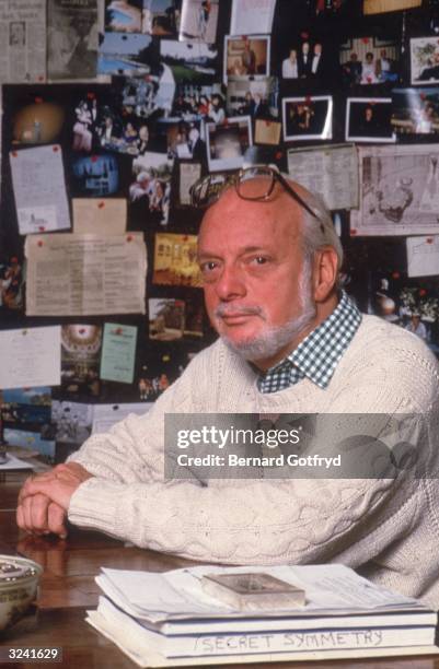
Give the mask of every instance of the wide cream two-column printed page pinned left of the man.
<path id="1" fill-rule="evenodd" d="M 27 316 L 145 314 L 147 249 L 141 233 L 31 235 L 25 255 Z"/>

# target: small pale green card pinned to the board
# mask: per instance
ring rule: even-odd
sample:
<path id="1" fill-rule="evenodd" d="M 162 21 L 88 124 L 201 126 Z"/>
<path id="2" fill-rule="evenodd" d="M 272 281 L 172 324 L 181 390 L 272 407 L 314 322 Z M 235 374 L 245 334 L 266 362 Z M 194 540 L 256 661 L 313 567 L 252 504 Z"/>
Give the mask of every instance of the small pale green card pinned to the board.
<path id="1" fill-rule="evenodd" d="M 136 360 L 137 327 L 115 322 L 104 325 L 101 378 L 132 384 Z"/>

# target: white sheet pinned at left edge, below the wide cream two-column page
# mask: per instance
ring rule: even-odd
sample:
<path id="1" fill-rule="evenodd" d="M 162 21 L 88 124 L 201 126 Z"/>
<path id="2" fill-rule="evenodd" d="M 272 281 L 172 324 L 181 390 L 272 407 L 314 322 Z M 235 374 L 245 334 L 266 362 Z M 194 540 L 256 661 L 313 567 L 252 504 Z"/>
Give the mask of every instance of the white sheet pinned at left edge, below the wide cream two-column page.
<path id="1" fill-rule="evenodd" d="M 0 388 L 60 385 L 60 326 L 2 330 L 0 351 Z"/>

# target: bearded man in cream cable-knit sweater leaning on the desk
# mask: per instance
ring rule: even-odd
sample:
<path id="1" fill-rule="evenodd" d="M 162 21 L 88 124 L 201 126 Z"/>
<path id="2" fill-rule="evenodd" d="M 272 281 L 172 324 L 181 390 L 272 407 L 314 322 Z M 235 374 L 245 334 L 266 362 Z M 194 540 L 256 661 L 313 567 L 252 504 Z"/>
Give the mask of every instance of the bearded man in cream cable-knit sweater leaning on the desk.
<path id="1" fill-rule="evenodd" d="M 221 178 L 205 178 L 194 200 L 209 203 Z M 338 293 L 342 248 L 328 213 L 274 168 L 243 171 L 210 204 L 198 260 L 218 341 L 145 416 L 28 480 L 19 525 L 65 536 L 68 513 L 79 526 L 200 561 L 340 562 L 439 606 L 437 480 L 163 481 L 165 413 L 330 412 L 343 421 L 346 412 L 421 413 L 437 399 L 434 356 Z"/>

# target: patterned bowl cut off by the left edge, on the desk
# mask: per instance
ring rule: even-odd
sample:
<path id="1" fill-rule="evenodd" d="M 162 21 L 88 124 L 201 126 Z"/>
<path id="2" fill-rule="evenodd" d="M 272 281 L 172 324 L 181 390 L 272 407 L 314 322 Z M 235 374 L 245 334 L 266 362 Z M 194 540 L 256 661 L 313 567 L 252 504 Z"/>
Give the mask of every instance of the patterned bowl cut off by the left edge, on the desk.
<path id="1" fill-rule="evenodd" d="M 0 631 L 20 620 L 34 601 L 43 567 L 26 558 L 0 555 Z"/>

